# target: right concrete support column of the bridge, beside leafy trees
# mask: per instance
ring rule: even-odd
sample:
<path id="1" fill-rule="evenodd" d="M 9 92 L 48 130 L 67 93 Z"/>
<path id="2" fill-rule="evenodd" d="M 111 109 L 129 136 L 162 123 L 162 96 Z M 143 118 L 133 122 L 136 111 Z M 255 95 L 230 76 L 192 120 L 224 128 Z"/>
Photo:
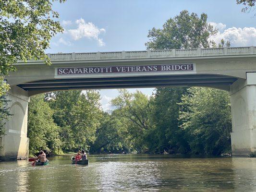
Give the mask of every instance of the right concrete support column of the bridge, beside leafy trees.
<path id="1" fill-rule="evenodd" d="M 256 72 L 230 87 L 232 112 L 232 155 L 248 156 L 256 152 Z"/>

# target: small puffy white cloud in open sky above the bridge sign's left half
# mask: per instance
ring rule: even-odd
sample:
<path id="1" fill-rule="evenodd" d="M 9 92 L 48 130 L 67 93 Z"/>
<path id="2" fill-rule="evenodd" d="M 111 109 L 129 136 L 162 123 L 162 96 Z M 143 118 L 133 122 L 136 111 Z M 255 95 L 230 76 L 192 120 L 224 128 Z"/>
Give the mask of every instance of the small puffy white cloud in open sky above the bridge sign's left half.
<path id="1" fill-rule="evenodd" d="M 83 37 L 92 38 L 98 41 L 99 46 L 105 46 L 103 40 L 99 38 L 99 35 L 105 32 L 105 29 L 99 29 L 91 22 L 85 23 L 85 20 L 82 18 L 76 20 L 75 23 L 77 24 L 77 28 L 68 30 L 73 40 L 78 40 Z"/>

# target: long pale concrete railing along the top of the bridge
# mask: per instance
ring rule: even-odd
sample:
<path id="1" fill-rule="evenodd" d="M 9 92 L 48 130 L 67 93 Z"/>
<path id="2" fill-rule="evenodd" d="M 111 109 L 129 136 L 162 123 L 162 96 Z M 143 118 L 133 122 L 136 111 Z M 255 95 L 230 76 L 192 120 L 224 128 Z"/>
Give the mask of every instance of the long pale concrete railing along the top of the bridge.
<path id="1" fill-rule="evenodd" d="M 209 56 L 251 55 L 251 54 L 256 54 L 256 47 L 252 46 L 252 47 L 237 47 L 237 48 L 197 48 L 197 49 L 94 52 L 94 53 L 57 53 L 57 54 L 48 54 L 48 57 L 52 61 L 65 61 L 65 60 L 122 60 L 122 59 L 126 60 L 126 59 L 179 58 L 179 57 L 209 57 Z"/>

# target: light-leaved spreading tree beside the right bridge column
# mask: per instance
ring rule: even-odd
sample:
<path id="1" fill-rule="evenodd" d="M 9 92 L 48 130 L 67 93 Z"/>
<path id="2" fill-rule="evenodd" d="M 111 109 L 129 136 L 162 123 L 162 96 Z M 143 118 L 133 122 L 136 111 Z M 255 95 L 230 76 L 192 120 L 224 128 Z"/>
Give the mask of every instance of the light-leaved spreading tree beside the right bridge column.
<path id="1" fill-rule="evenodd" d="M 231 150 L 230 97 L 217 89 L 192 87 L 182 96 L 180 126 L 193 153 L 218 155 Z"/>

